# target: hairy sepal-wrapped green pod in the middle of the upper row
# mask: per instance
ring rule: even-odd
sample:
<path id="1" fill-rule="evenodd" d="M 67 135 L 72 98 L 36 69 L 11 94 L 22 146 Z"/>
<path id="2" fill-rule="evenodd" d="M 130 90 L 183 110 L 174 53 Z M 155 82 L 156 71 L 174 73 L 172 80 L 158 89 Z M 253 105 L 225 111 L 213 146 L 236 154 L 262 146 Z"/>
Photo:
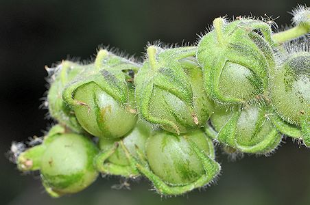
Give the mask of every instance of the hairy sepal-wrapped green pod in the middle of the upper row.
<path id="1" fill-rule="evenodd" d="M 187 133 L 203 126 L 213 104 L 206 96 L 195 47 L 147 48 L 136 75 L 136 105 L 141 118 L 172 133 Z"/>

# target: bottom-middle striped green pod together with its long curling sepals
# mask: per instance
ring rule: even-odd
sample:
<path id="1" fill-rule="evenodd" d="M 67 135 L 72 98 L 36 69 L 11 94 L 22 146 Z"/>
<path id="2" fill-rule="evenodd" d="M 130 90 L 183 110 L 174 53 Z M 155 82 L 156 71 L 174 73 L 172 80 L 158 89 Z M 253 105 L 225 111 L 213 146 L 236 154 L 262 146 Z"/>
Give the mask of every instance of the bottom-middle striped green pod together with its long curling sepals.
<path id="1" fill-rule="evenodd" d="M 200 130 L 184 135 L 159 131 L 147 139 L 145 152 L 139 157 L 126 154 L 132 167 L 162 195 L 180 195 L 203 187 L 219 174 L 212 140 Z"/>

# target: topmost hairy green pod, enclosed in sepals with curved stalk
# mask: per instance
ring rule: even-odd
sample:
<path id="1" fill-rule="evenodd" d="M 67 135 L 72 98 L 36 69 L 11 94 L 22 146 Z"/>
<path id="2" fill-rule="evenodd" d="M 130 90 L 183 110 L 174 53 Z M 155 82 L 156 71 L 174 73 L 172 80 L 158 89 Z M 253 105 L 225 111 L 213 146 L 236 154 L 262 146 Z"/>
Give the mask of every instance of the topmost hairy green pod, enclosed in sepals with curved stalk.
<path id="1" fill-rule="evenodd" d="M 274 67 L 270 26 L 252 19 L 226 23 L 223 18 L 215 18 L 213 25 L 197 53 L 208 96 L 222 104 L 260 102 L 268 70 Z"/>

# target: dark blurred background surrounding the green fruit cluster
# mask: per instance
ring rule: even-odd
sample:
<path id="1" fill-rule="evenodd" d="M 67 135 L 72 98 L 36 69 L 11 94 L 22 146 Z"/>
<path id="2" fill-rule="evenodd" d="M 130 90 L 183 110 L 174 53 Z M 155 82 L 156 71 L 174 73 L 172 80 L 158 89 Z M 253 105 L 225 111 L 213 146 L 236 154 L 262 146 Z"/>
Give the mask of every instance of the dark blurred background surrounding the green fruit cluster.
<path id="1" fill-rule="evenodd" d="M 38 174 L 24 176 L 8 161 L 12 141 L 43 135 L 51 122 L 39 109 L 44 66 L 62 59 L 91 59 L 98 45 L 141 57 L 148 41 L 195 42 L 217 16 L 280 16 L 290 23 L 294 0 L 0 1 L 0 204 L 310 204 L 310 152 L 287 139 L 270 157 L 230 162 L 217 151 L 222 176 L 206 190 L 160 197 L 150 182 L 112 189 L 118 178 L 98 178 L 81 193 L 51 199 Z M 76 58 L 75 58 L 76 59 Z"/>

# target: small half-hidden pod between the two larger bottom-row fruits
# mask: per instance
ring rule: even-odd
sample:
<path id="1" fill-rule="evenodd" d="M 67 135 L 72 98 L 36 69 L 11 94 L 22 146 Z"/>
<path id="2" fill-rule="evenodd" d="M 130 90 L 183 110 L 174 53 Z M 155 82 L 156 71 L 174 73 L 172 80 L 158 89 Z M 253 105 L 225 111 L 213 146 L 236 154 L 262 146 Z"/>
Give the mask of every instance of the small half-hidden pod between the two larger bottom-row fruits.
<path id="1" fill-rule="evenodd" d="M 102 174 L 120 175 L 124 177 L 139 176 L 136 169 L 132 169 L 130 161 L 123 148 L 119 146 L 120 141 L 126 147 L 131 156 L 138 157 L 136 149 L 145 153 L 145 141 L 150 137 L 152 128 L 150 124 L 138 121 L 134 129 L 123 139 L 99 139 L 100 152 L 96 156 L 97 170 Z"/>

